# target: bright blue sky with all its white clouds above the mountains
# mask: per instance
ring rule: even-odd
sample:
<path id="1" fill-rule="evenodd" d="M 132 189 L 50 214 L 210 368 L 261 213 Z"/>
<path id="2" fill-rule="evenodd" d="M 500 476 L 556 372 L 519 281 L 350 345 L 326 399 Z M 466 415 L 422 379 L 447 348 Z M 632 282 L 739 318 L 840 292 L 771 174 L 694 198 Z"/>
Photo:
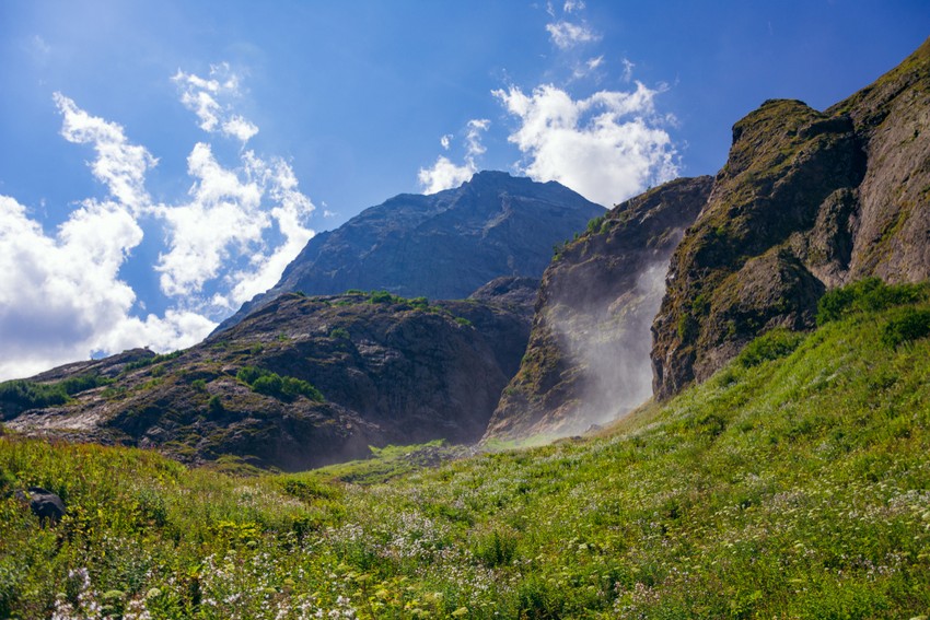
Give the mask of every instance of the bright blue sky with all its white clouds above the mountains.
<path id="1" fill-rule="evenodd" d="M 0 378 L 197 342 L 315 233 L 476 169 L 609 206 L 824 108 L 930 3 L 0 0 Z"/>

